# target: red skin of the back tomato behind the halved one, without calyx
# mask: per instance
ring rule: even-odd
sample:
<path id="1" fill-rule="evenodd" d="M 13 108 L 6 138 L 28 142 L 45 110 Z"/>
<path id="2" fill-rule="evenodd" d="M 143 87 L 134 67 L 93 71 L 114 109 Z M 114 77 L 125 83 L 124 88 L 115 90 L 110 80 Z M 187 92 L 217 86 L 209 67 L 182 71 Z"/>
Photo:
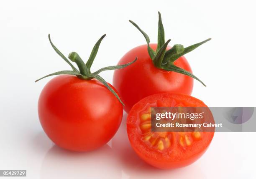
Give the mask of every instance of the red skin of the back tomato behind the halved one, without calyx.
<path id="1" fill-rule="evenodd" d="M 154 50 L 157 44 L 150 44 Z M 171 47 L 167 47 L 167 50 Z M 128 113 L 133 105 L 142 98 L 157 93 L 183 93 L 190 95 L 193 89 L 193 78 L 156 68 L 148 55 L 147 45 L 141 45 L 128 51 L 118 62 L 123 65 L 138 60 L 128 67 L 115 70 L 113 86 L 120 94 L 125 104 L 124 110 Z M 178 58 L 174 64 L 192 73 L 184 56 Z"/>

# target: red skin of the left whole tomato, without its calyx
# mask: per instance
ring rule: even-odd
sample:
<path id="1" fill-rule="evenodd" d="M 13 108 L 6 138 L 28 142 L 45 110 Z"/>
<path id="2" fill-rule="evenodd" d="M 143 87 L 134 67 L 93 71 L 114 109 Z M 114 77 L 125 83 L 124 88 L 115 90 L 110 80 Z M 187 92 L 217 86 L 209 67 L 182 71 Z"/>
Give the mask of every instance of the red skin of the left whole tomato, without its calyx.
<path id="1" fill-rule="evenodd" d="M 60 75 L 41 92 L 38 116 L 45 133 L 57 146 L 90 151 L 114 136 L 123 106 L 100 81 Z"/>

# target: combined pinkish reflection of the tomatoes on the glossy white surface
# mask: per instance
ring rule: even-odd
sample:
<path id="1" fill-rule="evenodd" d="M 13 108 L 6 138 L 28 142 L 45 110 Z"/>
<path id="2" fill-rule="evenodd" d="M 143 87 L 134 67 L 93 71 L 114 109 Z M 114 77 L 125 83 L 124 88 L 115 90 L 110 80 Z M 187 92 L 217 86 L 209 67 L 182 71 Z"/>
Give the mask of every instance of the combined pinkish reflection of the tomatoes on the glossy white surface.
<path id="1" fill-rule="evenodd" d="M 41 179 L 156 179 L 167 176 L 206 178 L 197 165 L 186 167 L 186 169 L 161 170 L 142 161 L 128 141 L 126 117 L 127 114 L 124 114 L 120 129 L 108 143 L 110 145 L 106 144 L 98 150 L 73 152 L 53 145 L 43 158 L 40 170 Z M 49 139 L 46 135 L 39 134 L 35 142 L 49 144 Z M 41 147 L 44 146 L 39 145 L 37 149 L 42 150 Z"/>

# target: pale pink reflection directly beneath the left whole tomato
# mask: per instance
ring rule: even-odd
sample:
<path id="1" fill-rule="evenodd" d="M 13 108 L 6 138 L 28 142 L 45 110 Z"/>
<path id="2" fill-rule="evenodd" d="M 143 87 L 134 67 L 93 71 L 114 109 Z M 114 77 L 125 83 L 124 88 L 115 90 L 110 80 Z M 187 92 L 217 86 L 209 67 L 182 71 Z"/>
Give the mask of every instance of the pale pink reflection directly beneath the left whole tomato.
<path id="1" fill-rule="evenodd" d="M 90 152 L 73 152 L 54 145 L 41 164 L 41 179 L 121 178 L 118 159 L 107 144 Z"/>

